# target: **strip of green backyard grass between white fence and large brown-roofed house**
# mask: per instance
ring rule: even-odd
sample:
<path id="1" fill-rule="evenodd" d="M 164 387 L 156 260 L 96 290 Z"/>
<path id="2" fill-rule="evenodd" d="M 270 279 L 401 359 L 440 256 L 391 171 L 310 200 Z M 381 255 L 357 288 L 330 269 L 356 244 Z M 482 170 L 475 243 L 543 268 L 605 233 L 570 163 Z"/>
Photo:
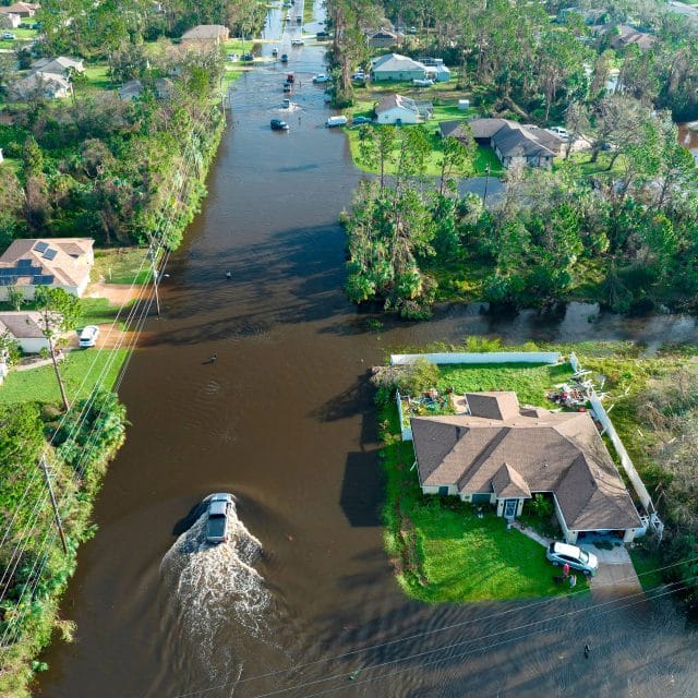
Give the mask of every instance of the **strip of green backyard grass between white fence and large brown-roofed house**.
<path id="1" fill-rule="evenodd" d="M 568 363 L 535 365 L 530 363 L 453 364 L 440 366 L 440 390 L 453 386 L 458 394 L 482 390 L 515 390 L 521 405 L 551 407 L 545 390 L 571 378 Z"/>

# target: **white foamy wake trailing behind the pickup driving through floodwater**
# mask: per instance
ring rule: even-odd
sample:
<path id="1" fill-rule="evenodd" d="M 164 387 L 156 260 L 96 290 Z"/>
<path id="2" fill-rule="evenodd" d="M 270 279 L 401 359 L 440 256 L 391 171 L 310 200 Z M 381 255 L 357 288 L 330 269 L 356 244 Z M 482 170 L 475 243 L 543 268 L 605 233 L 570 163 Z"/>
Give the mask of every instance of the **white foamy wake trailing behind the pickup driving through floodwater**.
<path id="1" fill-rule="evenodd" d="M 243 645 L 265 640 L 273 598 L 252 566 L 262 543 L 238 518 L 234 505 L 228 542 L 206 543 L 205 529 L 206 513 L 166 553 L 160 575 L 190 658 L 193 654 L 210 675 L 229 676 L 242 672 Z"/>

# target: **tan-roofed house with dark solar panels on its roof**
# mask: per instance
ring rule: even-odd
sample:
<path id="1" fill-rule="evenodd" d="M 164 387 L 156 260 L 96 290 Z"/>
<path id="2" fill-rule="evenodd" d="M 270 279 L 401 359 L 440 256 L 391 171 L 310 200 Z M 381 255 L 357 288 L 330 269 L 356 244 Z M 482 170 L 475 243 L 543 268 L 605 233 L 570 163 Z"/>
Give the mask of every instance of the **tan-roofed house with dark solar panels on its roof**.
<path id="1" fill-rule="evenodd" d="M 14 240 L 0 256 L 0 300 L 14 286 L 33 299 L 37 286 L 62 288 L 82 296 L 95 258 L 92 238 L 27 238 Z"/>

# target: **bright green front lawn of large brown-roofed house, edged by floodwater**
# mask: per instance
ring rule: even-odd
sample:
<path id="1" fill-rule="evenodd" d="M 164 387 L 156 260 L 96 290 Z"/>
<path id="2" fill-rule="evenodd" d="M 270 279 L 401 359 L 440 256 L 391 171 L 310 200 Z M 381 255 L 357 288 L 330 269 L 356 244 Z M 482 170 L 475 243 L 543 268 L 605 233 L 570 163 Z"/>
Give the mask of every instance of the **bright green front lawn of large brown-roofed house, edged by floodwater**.
<path id="1" fill-rule="evenodd" d="M 385 546 L 398 583 L 411 598 L 429 603 L 568 594 L 553 582 L 556 570 L 545 550 L 504 519 L 479 519 L 471 505 L 456 497 L 422 495 L 411 470 L 414 450 L 401 442 L 392 405 L 380 413 L 386 474 Z M 588 588 L 579 577 L 575 593 Z"/>

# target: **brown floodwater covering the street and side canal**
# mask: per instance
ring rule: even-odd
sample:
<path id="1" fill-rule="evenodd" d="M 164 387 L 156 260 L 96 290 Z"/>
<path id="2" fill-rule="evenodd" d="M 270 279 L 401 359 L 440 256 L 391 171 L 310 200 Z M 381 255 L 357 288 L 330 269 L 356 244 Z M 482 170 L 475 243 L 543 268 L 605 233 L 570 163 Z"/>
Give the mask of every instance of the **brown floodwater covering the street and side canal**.
<path id="1" fill-rule="evenodd" d="M 274 36 L 278 11 L 270 20 Z M 280 68 L 234 86 L 208 198 L 121 388 L 128 442 L 61 609 L 75 642 L 46 652 L 36 695 L 696 695 L 698 638 L 671 597 L 409 601 L 383 550 L 366 381 L 399 345 L 481 334 L 652 348 L 698 340 L 695 321 L 590 324 L 585 305 L 545 317 L 473 305 L 369 329 L 341 292 L 336 219 L 358 173 L 342 133 L 323 128 L 330 112 L 311 84 L 323 50 L 288 52 L 302 83 L 297 109 L 279 109 Z M 279 116 L 288 134 L 269 131 Z M 219 491 L 238 497 L 239 544 L 206 549 L 201 519 L 189 530 L 196 515 L 182 519 Z"/>

